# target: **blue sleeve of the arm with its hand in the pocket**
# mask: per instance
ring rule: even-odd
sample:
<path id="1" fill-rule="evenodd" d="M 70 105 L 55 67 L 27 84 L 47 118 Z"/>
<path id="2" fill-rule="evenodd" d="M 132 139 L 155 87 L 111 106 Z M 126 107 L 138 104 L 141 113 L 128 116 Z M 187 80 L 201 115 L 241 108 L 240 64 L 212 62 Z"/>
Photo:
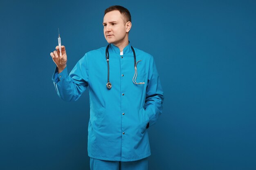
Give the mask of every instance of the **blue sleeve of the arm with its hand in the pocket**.
<path id="1" fill-rule="evenodd" d="M 149 123 L 146 128 L 148 128 L 149 125 L 154 125 L 159 116 L 162 114 L 163 102 L 163 89 L 160 83 L 155 61 L 153 59 L 153 56 L 151 56 L 145 99 L 145 112 L 149 117 Z"/>

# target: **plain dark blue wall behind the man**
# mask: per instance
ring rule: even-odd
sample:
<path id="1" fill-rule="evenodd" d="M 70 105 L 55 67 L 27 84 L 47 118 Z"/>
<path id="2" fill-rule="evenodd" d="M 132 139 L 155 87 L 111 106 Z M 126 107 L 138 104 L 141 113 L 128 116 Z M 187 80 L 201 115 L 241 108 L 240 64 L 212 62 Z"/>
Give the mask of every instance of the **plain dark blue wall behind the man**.
<path id="1" fill-rule="evenodd" d="M 104 10 L 115 4 L 129 9 L 129 40 L 155 57 L 164 89 L 149 170 L 255 170 L 253 0 L 1 0 L 0 170 L 89 169 L 88 90 L 62 101 L 50 53 L 58 28 L 68 72 L 106 46 Z"/>

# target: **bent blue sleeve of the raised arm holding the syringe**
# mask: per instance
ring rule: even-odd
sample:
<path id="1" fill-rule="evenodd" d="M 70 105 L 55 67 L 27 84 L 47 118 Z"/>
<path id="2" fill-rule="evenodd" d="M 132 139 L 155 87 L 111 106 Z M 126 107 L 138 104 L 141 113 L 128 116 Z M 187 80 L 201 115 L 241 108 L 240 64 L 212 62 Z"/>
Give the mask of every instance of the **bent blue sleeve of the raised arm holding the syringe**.
<path id="1" fill-rule="evenodd" d="M 58 96 L 66 102 L 76 101 L 88 87 L 88 63 L 86 54 L 76 63 L 70 75 L 67 67 L 58 74 L 56 66 L 52 76 Z"/>

